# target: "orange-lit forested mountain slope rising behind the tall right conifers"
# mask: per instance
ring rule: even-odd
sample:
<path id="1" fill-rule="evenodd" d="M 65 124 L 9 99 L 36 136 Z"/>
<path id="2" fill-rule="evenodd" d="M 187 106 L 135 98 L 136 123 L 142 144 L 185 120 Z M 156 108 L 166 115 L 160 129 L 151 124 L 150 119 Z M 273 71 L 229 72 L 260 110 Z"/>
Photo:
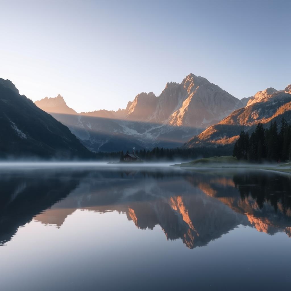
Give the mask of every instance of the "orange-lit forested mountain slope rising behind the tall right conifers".
<path id="1" fill-rule="evenodd" d="M 259 91 L 250 99 L 247 106 L 233 111 L 219 123 L 212 125 L 194 136 L 185 145 L 185 148 L 226 145 L 232 148 L 238 135 L 244 129 L 253 132 L 258 123 L 269 125 L 276 120 L 281 123 L 284 117 L 291 122 L 291 85 L 285 90 L 277 91 L 268 88 Z M 273 92 L 273 93 L 272 93 Z"/>

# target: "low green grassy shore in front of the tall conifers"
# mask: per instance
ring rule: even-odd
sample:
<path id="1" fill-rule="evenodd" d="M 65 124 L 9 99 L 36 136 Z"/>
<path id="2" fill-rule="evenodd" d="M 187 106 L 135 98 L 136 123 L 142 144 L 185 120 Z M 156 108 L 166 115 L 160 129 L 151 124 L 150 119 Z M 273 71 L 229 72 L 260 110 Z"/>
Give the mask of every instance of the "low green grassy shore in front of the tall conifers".
<path id="1" fill-rule="evenodd" d="M 237 158 L 233 156 L 202 158 L 171 166 L 192 168 L 250 168 L 291 173 L 291 163 L 253 164 L 247 161 L 238 161 Z"/>

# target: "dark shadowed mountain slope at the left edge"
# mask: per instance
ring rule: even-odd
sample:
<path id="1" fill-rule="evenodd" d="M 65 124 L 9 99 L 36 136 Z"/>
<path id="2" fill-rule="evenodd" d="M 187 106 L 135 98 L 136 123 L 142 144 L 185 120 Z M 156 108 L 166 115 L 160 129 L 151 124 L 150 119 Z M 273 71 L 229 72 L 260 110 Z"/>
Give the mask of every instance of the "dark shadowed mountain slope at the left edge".
<path id="1" fill-rule="evenodd" d="M 89 158 L 68 127 L 0 79 L 0 157 Z"/>

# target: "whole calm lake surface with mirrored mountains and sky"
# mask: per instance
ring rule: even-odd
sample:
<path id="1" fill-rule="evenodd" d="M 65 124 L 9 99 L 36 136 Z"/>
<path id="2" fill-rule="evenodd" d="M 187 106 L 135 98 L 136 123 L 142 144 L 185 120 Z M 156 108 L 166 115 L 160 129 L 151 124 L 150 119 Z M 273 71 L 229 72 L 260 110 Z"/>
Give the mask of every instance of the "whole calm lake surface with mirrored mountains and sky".
<path id="1" fill-rule="evenodd" d="M 0 169 L 0 289 L 288 290 L 291 178 Z"/>

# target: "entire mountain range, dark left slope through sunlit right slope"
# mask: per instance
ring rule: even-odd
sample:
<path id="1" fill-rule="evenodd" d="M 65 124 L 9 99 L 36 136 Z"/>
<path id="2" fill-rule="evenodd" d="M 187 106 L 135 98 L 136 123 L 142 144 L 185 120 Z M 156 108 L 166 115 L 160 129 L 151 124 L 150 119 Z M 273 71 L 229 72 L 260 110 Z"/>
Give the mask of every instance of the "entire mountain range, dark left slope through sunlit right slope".
<path id="1" fill-rule="evenodd" d="M 159 96 L 140 93 L 125 109 L 77 113 L 61 95 L 35 104 L 0 79 L 0 157 L 94 157 L 92 152 L 225 147 L 242 129 L 284 117 L 291 121 L 291 85 L 239 100 L 207 79 L 189 74 Z M 46 111 L 46 112 L 45 112 Z"/>

